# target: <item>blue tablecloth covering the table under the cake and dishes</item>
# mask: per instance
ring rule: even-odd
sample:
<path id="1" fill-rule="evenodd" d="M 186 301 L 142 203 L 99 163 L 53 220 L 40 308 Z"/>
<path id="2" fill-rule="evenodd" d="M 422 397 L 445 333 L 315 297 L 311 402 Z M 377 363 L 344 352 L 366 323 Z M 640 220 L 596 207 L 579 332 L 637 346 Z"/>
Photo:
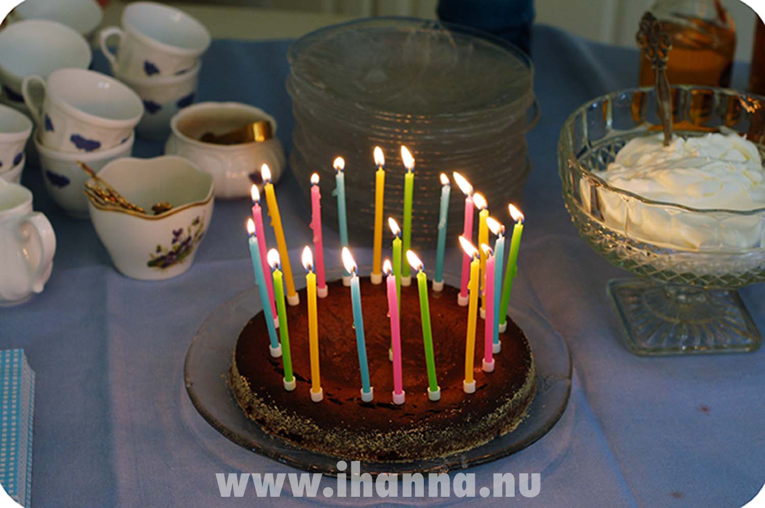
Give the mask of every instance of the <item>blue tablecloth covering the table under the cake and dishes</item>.
<path id="1" fill-rule="evenodd" d="M 199 100 L 265 108 L 278 119 L 278 137 L 289 147 L 294 120 L 284 86 L 288 44 L 213 41 L 204 57 Z M 740 506 L 763 482 L 765 352 L 705 358 L 630 354 L 604 292 L 610 277 L 626 273 L 578 238 L 560 196 L 556 145 L 563 121 L 585 100 L 633 86 L 638 55 L 540 26 L 533 34 L 533 59 L 542 119 L 528 136 L 534 170 L 523 202 L 528 219 L 514 294 L 539 309 L 568 341 L 574 384 L 558 425 L 516 455 L 474 468 L 478 486 L 490 485 L 493 472 L 537 472 L 539 496 L 516 501 Z M 103 68 L 103 60 L 97 66 Z M 734 76 L 741 86 L 747 70 L 737 67 Z M 149 157 L 161 150 L 161 144 L 138 141 L 135 154 Z M 24 348 L 37 372 L 32 503 L 217 506 L 223 500 L 216 473 L 291 471 L 218 434 L 191 406 L 183 383 L 184 354 L 197 327 L 214 307 L 252 287 L 242 231 L 248 201 L 216 202 L 194 267 L 150 283 L 114 270 L 90 222 L 57 209 L 37 168 L 25 170 L 24 184 L 58 239 L 44 293 L 0 309 L 0 348 Z M 290 199 L 298 196 L 291 173 L 277 192 L 297 264 L 299 248 L 310 238 L 310 207 Z M 337 233 L 327 228 L 324 235 L 327 259 L 334 259 Z M 370 261 L 369 249 L 356 253 L 361 264 Z M 432 264 L 434 253 L 424 254 Z M 448 252 L 451 262 L 458 257 L 456 249 Z M 763 286 L 741 293 L 765 330 Z M 291 500 L 257 501 L 252 490 L 247 494 L 225 500 L 226 506 Z M 474 503 L 488 506 L 493 499 Z"/>

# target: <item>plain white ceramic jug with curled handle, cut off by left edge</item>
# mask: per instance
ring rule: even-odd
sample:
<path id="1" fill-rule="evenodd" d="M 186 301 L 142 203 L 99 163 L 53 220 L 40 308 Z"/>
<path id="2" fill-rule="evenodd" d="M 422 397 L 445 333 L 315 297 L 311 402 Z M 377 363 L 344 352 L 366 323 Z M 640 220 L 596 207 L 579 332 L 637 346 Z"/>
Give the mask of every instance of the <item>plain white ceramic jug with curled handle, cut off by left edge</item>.
<path id="1" fill-rule="evenodd" d="M 55 252 L 53 226 L 45 215 L 32 212 L 32 193 L 0 180 L 0 306 L 40 293 Z"/>

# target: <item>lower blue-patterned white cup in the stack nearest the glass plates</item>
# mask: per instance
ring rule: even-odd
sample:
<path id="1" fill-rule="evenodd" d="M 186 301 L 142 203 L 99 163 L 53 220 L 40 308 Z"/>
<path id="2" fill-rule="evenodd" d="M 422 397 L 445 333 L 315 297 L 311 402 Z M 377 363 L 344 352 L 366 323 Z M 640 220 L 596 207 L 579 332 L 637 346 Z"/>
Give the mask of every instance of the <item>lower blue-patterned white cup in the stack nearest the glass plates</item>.
<path id="1" fill-rule="evenodd" d="M 114 76 L 132 88 L 143 101 L 144 114 L 135 128 L 142 138 L 163 140 L 170 133 L 170 120 L 191 105 L 197 95 L 200 63 L 180 76 L 151 78 L 125 76 L 112 67 Z"/>

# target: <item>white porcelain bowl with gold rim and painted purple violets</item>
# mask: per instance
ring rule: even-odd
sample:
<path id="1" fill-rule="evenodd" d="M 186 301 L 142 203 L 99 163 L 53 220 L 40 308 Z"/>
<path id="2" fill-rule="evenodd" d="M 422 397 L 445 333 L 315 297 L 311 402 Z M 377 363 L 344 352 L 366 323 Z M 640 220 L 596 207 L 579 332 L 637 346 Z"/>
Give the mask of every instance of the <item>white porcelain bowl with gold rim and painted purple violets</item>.
<path id="1" fill-rule="evenodd" d="M 142 215 L 89 200 L 90 220 L 117 270 L 140 280 L 169 279 L 188 270 L 213 217 L 213 178 L 169 155 L 112 160 L 98 174 L 145 210 L 162 201 L 173 205 L 160 215 Z"/>

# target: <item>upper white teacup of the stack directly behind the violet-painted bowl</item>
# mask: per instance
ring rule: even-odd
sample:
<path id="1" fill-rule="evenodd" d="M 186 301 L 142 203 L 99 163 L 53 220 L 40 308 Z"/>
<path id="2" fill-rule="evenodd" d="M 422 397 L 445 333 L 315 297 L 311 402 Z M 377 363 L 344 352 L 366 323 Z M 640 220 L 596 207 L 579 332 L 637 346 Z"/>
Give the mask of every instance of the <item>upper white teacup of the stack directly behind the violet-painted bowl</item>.
<path id="1" fill-rule="evenodd" d="M 60 69 L 47 83 L 40 76 L 28 76 L 21 92 L 42 144 L 62 152 L 116 147 L 130 137 L 143 114 L 135 92 L 92 70 Z"/>

